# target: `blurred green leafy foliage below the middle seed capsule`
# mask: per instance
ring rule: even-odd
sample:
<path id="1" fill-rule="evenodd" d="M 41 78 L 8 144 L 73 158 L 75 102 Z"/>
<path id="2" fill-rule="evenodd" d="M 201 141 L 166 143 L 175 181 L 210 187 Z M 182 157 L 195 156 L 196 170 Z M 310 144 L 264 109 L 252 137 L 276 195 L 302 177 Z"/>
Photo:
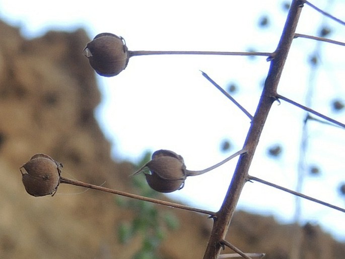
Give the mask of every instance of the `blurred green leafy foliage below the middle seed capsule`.
<path id="1" fill-rule="evenodd" d="M 140 168 L 150 161 L 151 153 L 147 152 L 141 162 L 137 164 Z M 132 185 L 139 195 L 157 198 L 160 193 L 154 191 L 146 182 L 144 174 L 139 174 L 131 178 Z M 168 230 L 179 227 L 179 221 L 171 212 L 160 211 L 156 205 L 149 202 L 125 197 L 116 197 L 119 207 L 129 209 L 134 216 L 128 221 L 123 221 L 117 229 L 117 236 L 120 243 L 129 243 L 135 236 L 140 235 L 142 244 L 139 250 L 133 255 L 133 259 L 159 259 L 159 245 L 164 240 Z"/>

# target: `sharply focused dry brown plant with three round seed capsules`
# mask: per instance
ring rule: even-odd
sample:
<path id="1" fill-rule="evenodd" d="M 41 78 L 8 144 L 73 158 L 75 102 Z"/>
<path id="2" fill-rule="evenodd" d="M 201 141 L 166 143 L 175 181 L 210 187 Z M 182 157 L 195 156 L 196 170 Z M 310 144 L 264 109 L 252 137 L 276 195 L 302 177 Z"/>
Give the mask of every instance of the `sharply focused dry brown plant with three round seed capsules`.
<path id="1" fill-rule="evenodd" d="M 133 173 L 133 176 L 139 173 L 145 173 L 148 184 L 155 190 L 160 192 L 172 192 L 180 189 L 184 185 L 184 180 L 188 176 L 195 176 L 202 173 L 209 172 L 214 168 L 221 166 L 232 158 L 239 157 L 233 178 L 229 185 L 228 191 L 224 198 L 223 204 L 219 211 L 208 211 L 198 208 L 193 208 L 172 202 L 166 202 L 144 196 L 134 195 L 119 190 L 114 190 L 102 186 L 84 183 L 81 181 L 68 179 L 61 176 L 62 164 L 56 162 L 51 157 L 44 154 L 34 155 L 29 162 L 21 167 L 23 176 L 23 183 L 25 189 L 30 195 L 45 196 L 54 195 L 60 183 L 73 184 L 83 186 L 86 188 L 97 189 L 129 197 L 146 202 L 156 203 L 172 208 L 193 211 L 201 214 L 206 214 L 213 220 L 213 228 L 208 242 L 208 246 L 204 252 L 204 259 L 216 258 L 254 258 L 263 257 L 263 253 L 245 253 L 239 248 L 235 247 L 229 241 L 225 240 L 228 232 L 228 227 L 231 223 L 236 205 L 241 195 L 244 184 L 248 181 L 260 182 L 274 188 L 286 191 L 297 197 L 307 199 L 309 201 L 327 206 L 331 209 L 344 213 L 345 209 L 339 208 L 335 205 L 320 201 L 313 197 L 309 197 L 297 191 L 285 188 L 283 186 L 271 183 L 269 181 L 260 179 L 258 177 L 248 174 L 256 147 L 258 145 L 260 135 L 265 125 L 266 118 L 269 114 L 271 105 L 274 102 L 285 101 L 307 112 L 308 118 L 326 121 L 332 125 L 345 128 L 345 124 L 335 119 L 332 119 L 320 112 L 317 112 L 307 106 L 297 103 L 277 92 L 279 81 L 284 69 L 284 64 L 287 59 L 290 46 L 293 40 L 297 37 L 303 37 L 311 40 L 324 41 L 330 44 L 337 44 L 344 46 L 344 42 L 326 39 L 324 37 L 316 37 L 296 33 L 296 27 L 304 6 L 313 8 L 334 21 L 345 25 L 345 23 L 330 14 L 318 9 L 313 4 L 305 0 L 293 0 L 286 19 L 285 27 L 277 48 L 273 52 L 216 52 L 216 51 L 130 51 L 128 50 L 125 41 L 122 37 L 111 33 L 101 33 L 97 35 L 93 41 L 89 42 L 84 49 L 85 55 L 89 58 L 91 66 L 101 76 L 115 76 L 124 70 L 128 64 L 129 58 L 140 55 L 157 55 L 157 54 L 211 54 L 211 55 L 250 55 L 250 56 L 266 56 L 267 61 L 270 62 L 270 68 L 264 83 L 262 94 L 257 105 L 255 114 L 250 114 L 242 105 L 240 105 L 228 92 L 220 87 L 213 79 L 206 73 L 201 72 L 202 76 L 220 90 L 227 98 L 229 98 L 236 106 L 243 111 L 243 113 L 251 120 L 251 125 L 247 133 L 247 137 L 243 144 L 243 148 L 220 163 L 206 168 L 201 171 L 187 170 L 182 156 L 169 150 L 158 150 L 152 155 L 152 160 L 147 162 L 143 167 Z M 312 114 L 312 115 L 311 115 Z M 220 254 L 222 249 L 227 246 L 235 251 L 233 254 Z"/>

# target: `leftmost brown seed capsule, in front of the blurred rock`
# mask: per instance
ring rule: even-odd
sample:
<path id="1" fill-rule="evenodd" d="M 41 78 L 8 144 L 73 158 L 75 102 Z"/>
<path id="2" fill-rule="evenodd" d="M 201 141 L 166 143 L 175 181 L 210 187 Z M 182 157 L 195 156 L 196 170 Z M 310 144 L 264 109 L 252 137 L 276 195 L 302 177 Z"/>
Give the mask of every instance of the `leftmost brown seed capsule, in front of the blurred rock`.
<path id="1" fill-rule="evenodd" d="M 20 168 L 25 190 L 35 197 L 53 196 L 60 183 L 61 167 L 48 155 L 34 155 Z"/>

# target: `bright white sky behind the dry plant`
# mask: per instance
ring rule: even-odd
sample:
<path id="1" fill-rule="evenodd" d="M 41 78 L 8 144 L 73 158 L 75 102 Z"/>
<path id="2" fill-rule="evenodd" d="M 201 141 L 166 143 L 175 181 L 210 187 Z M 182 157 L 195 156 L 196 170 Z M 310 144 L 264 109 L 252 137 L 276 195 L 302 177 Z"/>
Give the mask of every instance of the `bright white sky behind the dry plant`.
<path id="1" fill-rule="evenodd" d="M 345 3 L 332 1 L 326 7 L 345 20 Z M 313 3 L 325 8 L 325 2 Z M 0 18 L 21 26 L 27 37 L 49 29 L 73 30 L 83 27 L 90 38 L 101 32 L 122 36 L 129 50 L 219 50 L 273 51 L 286 19 L 282 1 L 9 1 L 0 0 Z M 260 29 L 261 16 L 268 15 L 270 26 Z M 323 18 L 309 7 L 302 11 L 298 33 L 316 35 L 318 24 L 332 28 L 331 38 L 345 41 L 345 28 Z M 315 41 L 295 39 L 278 92 L 300 103 L 310 82 L 308 56 Z M 331 113 L 330 101 L 343 100 L 345 88 L 343 47 L 322 44 L 322 63 L 315 83 L 312 108 L 345 121 L 345 113 Z M 82 49 L 81 49 L 82 54 Z M 103 94 L 96 115 L 106 137 L 113 143 L 114 159 L 139 161 L 146 150 L 169 149 L 183 156 L 187 169 L 209 167 L 241 149 L 249 119 L 233 103 L 206 81 L 199 70 L 220 86 L 238 85 L 234 98 L 254 114 L 260 97 L 260 84 L 269 63 L 265 57 L 254 60 L 239 56 L 138 56 L 113 78 L 97 76 Z M 294 188 L 300 152 L 301 128 L 305 113 L 283 102 L 274 103 L 264 127 L 250 174 Z M 303 192 L 320 200 L 345 207 L 338 185 L 345 181 L 343 146 L 345 132 L 316 122 L 309 124 L 308 163 L 321 168 L 319 177 L 308 176 Z M 222 140 L 230 139 L 233 149 L 222 153 Z M 267 157 L 267 147 L 283 145 L 279 159 Z M 218 210 L 230 183 L 236 159 L 201 176 L 189 177 L 185 187 L 168 195 L 193 206 Z M 273 215 L 291 222 L 295 197 L 264 186 L 247 183 L 239 209 Z M 345 215 L 303 201 L 303 222 L 320 224 L 345 241 Z"/>

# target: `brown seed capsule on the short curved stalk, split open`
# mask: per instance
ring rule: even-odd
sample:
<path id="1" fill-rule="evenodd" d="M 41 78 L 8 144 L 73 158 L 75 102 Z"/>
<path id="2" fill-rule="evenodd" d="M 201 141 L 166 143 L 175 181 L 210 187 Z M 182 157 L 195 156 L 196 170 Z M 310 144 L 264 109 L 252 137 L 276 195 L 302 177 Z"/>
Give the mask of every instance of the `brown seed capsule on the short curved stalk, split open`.
<path id="1" fill-rule="evenodd" d="M 151 188 L 159 192 L 181 189 L 186 179 L 183 158 L 170 150 L 158 150 L 146 164 L 151 174 L 145 174 Z"/>

